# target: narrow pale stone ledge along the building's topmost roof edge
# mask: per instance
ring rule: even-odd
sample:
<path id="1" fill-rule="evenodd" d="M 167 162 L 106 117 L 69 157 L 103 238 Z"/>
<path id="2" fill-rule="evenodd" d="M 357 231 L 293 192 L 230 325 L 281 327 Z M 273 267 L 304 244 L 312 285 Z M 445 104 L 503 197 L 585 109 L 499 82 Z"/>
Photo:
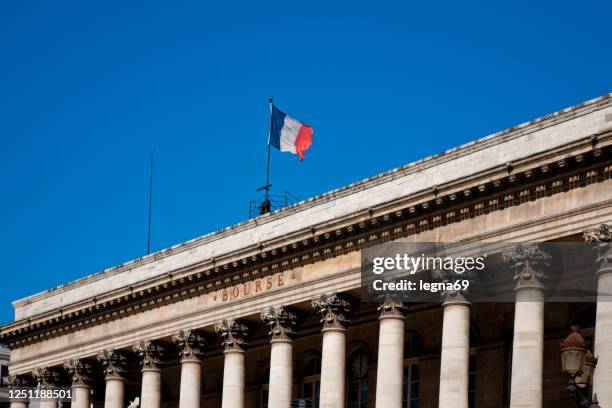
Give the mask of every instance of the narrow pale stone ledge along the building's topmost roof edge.
<path id="1" fill-rule="evenodd" d="M 507 142 L 509 140 L 513 140 L 515 138 L 536 132 L 538 130 L 542 130 L 542 129 L 545 129 L 551 126 L 558 125 L 560 123 L 578 118 L 580 116 L 606 108 L 611 105 L 612 105 L 612 93 L 603 95 L 598 98 L 591 99 L 584 103 L 581 103 L 581 104 L 578 104 L 578 105 L 575 105 L 575 106 L 572 106 L 572 107 L 569 107 L 569 108 L 566 108 L 566 109 L 563 109 L 563 110 L 560 110 L 560 111 L 557 111 L 557 112 L 554 112 L 554 113 L 551 113 L 545 116 L 541 116 L 537 119 L 522 123 L 512 128 L 508 128 L 506 130 L 494 133 L 492 135 L 489 135 L 489 136 L 477 139 L 475 141 L 460 145 L 458 147 L 446 150 L 443 153 L 432 155 L 432 156 L 411 162 L 409 164 L 391 169 L 389 171 L 380 173 L 376 176 L 363 179 L 359 182 L 351 183 L 347 186 L 337 188 L 325 194 L 311 197 L 307 200 L 300 201 L 294 205 L 282 208 L 280 210 L 273 211 L 272 213 L 264 214 L 256 218 L 252 218 L 247 221 L 244 221 L 238 224 L 234 224 L 232 226 L 228 226 L 221 230 L 214 231 L 209 234 L 203 235 L 201 237 L 198 237 L 192 240 L 188 240 L 180 244 L 174 245 L 172 247 L 155 252 L 151 255 L 137 258 L 129 262 L 114 266 L 112 268 L 108 268 L 104 271 L 101 271 L 101 272 L 98 272 L 92 275 L 88 275 L 86 277 L 74 280 L 72 282 L 68 282 L 56 288 L 49 289 L 47 291 L 40 292 L 38 294 L 29 296 L 27 298 L 15 301 L 13 302 L 13 305 L 15 307 L 26 305 L 33 301 L 44 298 L 45 296 L 48 296 L 49 294 L 52 294 L 52 293 L 61 292 L 67 289 L 73 289 L 85 283 L 93 282 L 93 281 L 96 281 L 96 280 L 99 280 L 99 279 L 102 279 L 108 276 L 112 276 L 117 273 L 129 271 L 139 266 L 143 266 L 143 265 L 146 265 L 152 262 L 156 262 L 168 256 L 172 256 L 177 253 L 188 251 L 195 247 L 205 245 L 207 243 L 230 236 L 237 232 L 248 230 L 258 225 L 262 225 L 262 224 L 269 223 L 269 222 L 272 222 L 278 219 L 282 219 L 289 215 L 299 213 L 308 208 L 314 207 L 316 205 L 326 203 L 329 201 L 333 201 L 333 200 L 337 200 L 339 198 L 346 197 L 358 191 L 367 190 L 371 187 L 383 184 L 390 180 L 404 177 L 406 175 L 422 171 L 426 168 L 433 167 L 438 164 L 457 159 L 459 157 L 463 157 L 465 155 L 477 152 L 479 150 L 482 150 L 482 149 L 485 149 L 491 146 L 495 146 L 500 143 Z M 285 238 L 286 237 L 283 237 L 283 239 Z"/>

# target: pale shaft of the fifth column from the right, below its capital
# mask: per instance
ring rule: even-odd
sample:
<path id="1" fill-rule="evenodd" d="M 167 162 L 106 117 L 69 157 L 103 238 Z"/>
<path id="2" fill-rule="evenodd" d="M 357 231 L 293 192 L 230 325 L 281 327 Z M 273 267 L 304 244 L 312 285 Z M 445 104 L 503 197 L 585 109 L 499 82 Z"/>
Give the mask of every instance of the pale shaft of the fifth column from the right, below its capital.
<path id="1" fill-rule="evenodd" d="M 346 330 L 323 329 L 321 408 L 344 408 L 346 388 Z"/>

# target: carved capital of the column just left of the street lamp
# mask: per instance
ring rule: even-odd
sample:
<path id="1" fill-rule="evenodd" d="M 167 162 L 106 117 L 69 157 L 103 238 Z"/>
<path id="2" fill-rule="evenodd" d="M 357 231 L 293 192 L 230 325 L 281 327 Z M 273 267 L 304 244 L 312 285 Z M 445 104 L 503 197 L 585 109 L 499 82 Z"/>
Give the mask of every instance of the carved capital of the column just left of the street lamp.
<path id="1" fill-rule="evenodd" d="M 516 289 L 544 288 L 551 256 L 537 243 L 518 244 L 502 251 L 502 258 L 514 274 Z"/>

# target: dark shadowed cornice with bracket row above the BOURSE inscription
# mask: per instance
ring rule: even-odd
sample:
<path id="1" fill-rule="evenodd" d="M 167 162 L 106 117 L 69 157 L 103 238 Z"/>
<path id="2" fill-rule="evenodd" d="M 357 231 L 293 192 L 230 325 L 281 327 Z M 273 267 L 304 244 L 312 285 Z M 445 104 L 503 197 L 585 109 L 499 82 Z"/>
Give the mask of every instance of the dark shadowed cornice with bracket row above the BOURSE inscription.
<path id="1" fill-rule="evenodd" d="M 168 303 L 199 296 L 240 282 L 274 274 L 296 266 L 335 257 L 364 246 L 435 229 L 463 219 L 499 211 L 560 192 L 601 182 L 612 177 L 611 135 L 601 135 L 593 146 L 591 139 L 550 151 L 543 162 L 537 155 L 523 163 L 498 169 L 482 180 L 462 180 L 455 185 L 440 186 L 428 195 L 413 197 L 394 206 L 358 214 L 343 225 L 328 225 L 308 232 L 300 240 L 287 239 L 282 246 L 266 246 L 255 260 L 243 262 L 236 257 L 231 263 L 193 265 L 124 288 L 108 297 L 92 299 L 73 309 L 54 315 L 9 324 L 0 330 L 0 341 L 20 347 L 45 338 L 129 316 Z M 569 156 L 571 149 L 575 154 Z M 559 159 L 559 157 L 563 157 Z M 529 167 L 531 164 L 532 167 Z M 493 173 L 504 174 L 493 178 Z M 465 188 L 465 183 L 471 183 Z M 459 187 L 459 188 L 457 188 Z M 244 258 L 243 258 L 244 259 Z"/>

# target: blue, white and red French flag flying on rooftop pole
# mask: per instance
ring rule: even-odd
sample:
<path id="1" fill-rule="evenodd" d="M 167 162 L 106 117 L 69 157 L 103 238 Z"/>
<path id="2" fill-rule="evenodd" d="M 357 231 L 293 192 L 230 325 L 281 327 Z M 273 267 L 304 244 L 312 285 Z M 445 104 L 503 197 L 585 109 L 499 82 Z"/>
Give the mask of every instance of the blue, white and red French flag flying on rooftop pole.
<path id="1" fill-rule="evenodd" d="M 281 152 L 297 154 L 300 160 L 304 160 L 304 152 L 312 144 L 312 128 L 272 105 L 270 144 Z"/>

